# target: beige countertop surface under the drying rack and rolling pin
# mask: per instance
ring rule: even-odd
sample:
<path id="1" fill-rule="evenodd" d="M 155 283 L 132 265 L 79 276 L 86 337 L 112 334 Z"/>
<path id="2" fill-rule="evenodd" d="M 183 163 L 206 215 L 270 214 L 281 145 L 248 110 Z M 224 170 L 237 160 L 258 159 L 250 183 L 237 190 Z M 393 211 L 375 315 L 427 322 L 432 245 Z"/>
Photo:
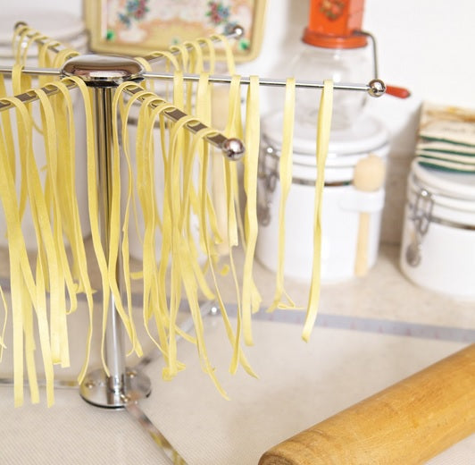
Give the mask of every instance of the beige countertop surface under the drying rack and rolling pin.
<path id="1" fill-rule="evenodd" d="M 0 259 L 0 267 L 5 267 L 2 250 Z M 237 266 L 242 259 L 237 251 Z M 179 342 L 179 359 L 187 368 L 171 382 L 163 382 L 162 360 L 147 365 L 153 390 L 140 402 L 141 408 L 189 465 L 255 464 L 272 445 L 474 342 L 475 302 L 423 290 L 401 275 L 397 263 L 397 246 L 383 245 L 367 276 L 324 284 L 317 325 L 308 343 L 300 337 L 303 311 L 255 314 L 255 343 L 246 348 L 246 355 L 259 379 L 242 369 L 229 375 L 230 349 L 221 318 L 204 318 L 210 359 L 230 401 L 221 398 L 200 369 L 196 348 Z M 254 272 L 265 309 L 273 297 L 273 274 L 258 263 Z M 5 286 L 7 276 L 2 276 Z M 139 284 L 134 286 L 138 295 Z M 296 303 L 305 304 L 306 284 L 287 280 L 286 287 Z M 232 286 L 223 283 L 221 292 L 235 323 Z M 83 357 L 82 310 L 71 315 L 72 366 L 63 370 L 63 378 L 77 374 Z M 8 339 L 7 346 L 11 347 Z M 5 352 L 0 376 L 11 375 L 11 361 L 11 353 Z M 97 363 L 93 354 L 91 366 Z M 93 407 L 77 389 L 58 390 L 50 409 L 46 402 L 30 405 L 28 396 L 23 407 L 14 409 L 12 388 L 1 389 L 4 464 L 167 463 L 125 412 Z M 473 457 L 475 435 L 429 463 L 468 465 Z"/>

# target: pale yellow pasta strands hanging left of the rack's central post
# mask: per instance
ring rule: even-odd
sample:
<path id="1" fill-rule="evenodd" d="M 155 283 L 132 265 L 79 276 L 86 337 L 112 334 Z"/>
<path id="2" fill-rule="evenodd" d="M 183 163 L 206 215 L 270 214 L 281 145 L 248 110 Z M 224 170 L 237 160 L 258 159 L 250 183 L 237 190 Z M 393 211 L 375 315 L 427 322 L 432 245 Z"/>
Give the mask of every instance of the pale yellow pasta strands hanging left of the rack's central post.
<path id="1" fill-rule="evenodd" d="M 26 86 L 31 83 L 21 73 L 28 47 L 37 38 L 44 37 L 27 27 L 21 27 L 17 33 L 20 34 L 20 39 L 16 52 L 17 63 L 12 70 L 12 87 L 21 93 L 28 90 Z M 27 37 L 30 38 L 25 47 L 24 41 Z M 48 46 L 52 43 L 47 40 L 46 42 Z M 74 54 L 68 50 L 67 53 L 58 55 L 61 59 L 66 59 Z M 45 54 L 40 53 L 39 56 L 41 60 L 41 56 Z M 60 62 L 61 60 L 56 60 L 54 64 Z M 34 326 L 37 325 L 43 356 L 47 403 L 51 405 L 54 402 L 53 365 L 68 367 L 70 364 L 66 317 L 77 308 L 76 293 L 79 290 L 86 292 L 89 316 L 92 315 L 92 289 L 88 283 L 87 266 L 84 266 L 86 254 L 79 226 L 79 207 L 74 195 L 74 122 L 71 96 L 61 82 L 49 83 L 48 89 L 57 90 L 58 95 L 54 100 L 46 96 L 44 89 L 30 91 L 36 93 L 39 102 L 39 120 L 34 122 L 31 106 L 25 106 L 16 98 L 4 97 L 6 90 L 4 85 L 0 86 L 4 103 L 16 108 L 18 127 L 18 137 L 15 141 L 12 138 L 10 112 L 2 112 L 1 197 L 10 249 L 15 405 L 21 405 L 23 402 L 23 356 L 31 400 L 39 401 L 33 356 L 36 346 Z M 40 176 L 44 166 L 37 165 L 37 153 L 34 151 L 37 146 L 32 142 L 34 125 L 43 133 L 46 164 L 44 176 Z M 59 138 L 56 137 L 58 134 Z M 61 147 L 63 156 L 58 156 L 58 147 Z M 17 172 L 20 173 L 18 185 L 15 180 Z M 36 236 L 37 261 L 34 269 L 29 265 L 21 231 L 27 207 Z M 63 237 L 67 237 L 71 244 L 73 266 L 69 263 Z M 78 281 L 74 282 L 73 276 L 76 276 Z M 79 374 L 80 380 L 84 373 L 85 368 Z"/>

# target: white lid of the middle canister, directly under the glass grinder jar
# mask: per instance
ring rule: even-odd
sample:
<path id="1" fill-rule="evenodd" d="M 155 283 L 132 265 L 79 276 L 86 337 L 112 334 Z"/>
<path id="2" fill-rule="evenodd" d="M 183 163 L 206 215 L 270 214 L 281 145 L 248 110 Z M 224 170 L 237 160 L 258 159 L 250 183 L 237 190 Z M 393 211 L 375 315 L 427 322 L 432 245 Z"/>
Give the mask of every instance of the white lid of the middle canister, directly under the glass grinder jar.
<path id="1" fill-rule="evenodd" d="M 282 124 L 282 112 L 271 114 L 262 119 L 262 133 L 276 148 L 282 145 Z M 309 165 L 314 165 L 315 163 L 316 134 L 316 123 L 313 125 L 307 122 L 296 121 L 294 128 L 294 153 L 309 156 Z M 331 131 L 327 159 L 330 163 L 338 163 L 338 160 L 344 160 L 344 156 L 367 154 L 386 145 L 387 139 L 387 129 L 384 125 L 379 120 L 365 115 L 358 118 L 349 128 Z M 344 161 L 343 163 L 346 162 Z"/>

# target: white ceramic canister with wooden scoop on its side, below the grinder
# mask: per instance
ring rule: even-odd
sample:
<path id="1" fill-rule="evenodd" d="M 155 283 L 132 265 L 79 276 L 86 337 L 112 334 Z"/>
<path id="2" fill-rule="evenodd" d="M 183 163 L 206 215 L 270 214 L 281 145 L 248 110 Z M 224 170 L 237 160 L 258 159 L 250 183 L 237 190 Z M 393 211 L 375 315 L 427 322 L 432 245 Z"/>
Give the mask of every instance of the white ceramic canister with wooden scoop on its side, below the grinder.
<path id="1" fill-rule="evenodd" d="M 272 271 L 278 265 L 279 238 L 279 146 L 282 115 L 262 121 L 259 180 L 259 234 L 256 257 Z M 316 179 L 315 134 L 296 123 L 293 182 L 286 208 L 285 275 L 310 281 L 312 275 L 313 206 Z M 313 136 L 312 136 L 313 135 Z M 359 118 L 351 128 L 332 131 L 325 167 L 322 199 L 321 281 L 335 283 L 354 276 L 360 215 L 368 213 L 368 266 L 374 265 L 379 249 L 381 212 L 385 190 L 363 192 L 352 184 L 358 160 L 375 154 L 386 159 L 387 131 L 370 117 Z"/>

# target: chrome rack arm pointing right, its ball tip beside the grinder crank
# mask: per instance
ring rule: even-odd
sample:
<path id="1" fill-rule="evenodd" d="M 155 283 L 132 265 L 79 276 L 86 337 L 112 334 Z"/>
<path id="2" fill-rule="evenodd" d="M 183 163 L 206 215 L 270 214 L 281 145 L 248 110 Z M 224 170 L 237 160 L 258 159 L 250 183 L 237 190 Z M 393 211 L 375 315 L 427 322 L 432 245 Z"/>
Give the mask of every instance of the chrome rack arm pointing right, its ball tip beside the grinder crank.
<path id="1" fill-rule="evenodd" d="M 174 74 L 171 72 L 144 72 L 142 76 L 145 79 L 156 79 L 156 80 L 172 80 Z M 191 81 L 198 81 L 200 79 L 199 74 L 184 74 L 184 80 L 191 80 Z M 229 83 L 231 81 L 231 76 L 223 75 L 210 75 L 209 76 L 210 82 L 217 82 L 217 83 Z M 249 76 L 241 77 L 241 84 L 248 85 L 250 82 Z M 381 80 L 377 80 L 382 86 L 384 83 Z M 346 83 L 346 82 L 337 82 L 333 85 L 333 89 L 336 90 L 359 90 L 365 91 L 371 94 L 371 91 L 374 89 L 373 87 L 373 80 L 369 84 L 354 84 L 354 83 Z M 284 79 L 270 79 L 270 78 L 260 78 L 259 84 L 262 86 L 273 86 L 273 87 L 285 87 L 287 81 Z M 312 81 L 312 80 L 297 80 L 296 87 L 302 89 L 322 89 L 323 82 L 321 81 Z M 372 95 L 372 94 L 371 94 Z M 379 96 L 373 96 L 379 97 Z"/>

